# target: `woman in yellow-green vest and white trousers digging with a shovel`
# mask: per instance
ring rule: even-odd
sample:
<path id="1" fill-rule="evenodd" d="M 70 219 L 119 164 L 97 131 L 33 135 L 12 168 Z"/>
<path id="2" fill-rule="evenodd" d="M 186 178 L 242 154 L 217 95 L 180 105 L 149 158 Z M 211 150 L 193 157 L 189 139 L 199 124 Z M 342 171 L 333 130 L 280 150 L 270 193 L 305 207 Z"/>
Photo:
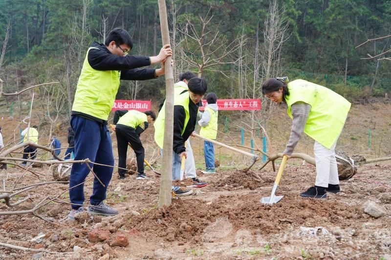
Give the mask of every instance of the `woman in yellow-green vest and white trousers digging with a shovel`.
<path id="1" fill-rule="evenodd" d="M 300 196 L 326 199 L 327 191 L 340 192 L 335 145 L 348 117 L 350 102 L 324 86 L 305 80 L 288 82 L 287 77 L 264 81 L 262 93 L 274 102 L 288 105 L 292 129 L 285 155 L 292 155 L 303 132 L 315 140 L 315 186 Z"/>

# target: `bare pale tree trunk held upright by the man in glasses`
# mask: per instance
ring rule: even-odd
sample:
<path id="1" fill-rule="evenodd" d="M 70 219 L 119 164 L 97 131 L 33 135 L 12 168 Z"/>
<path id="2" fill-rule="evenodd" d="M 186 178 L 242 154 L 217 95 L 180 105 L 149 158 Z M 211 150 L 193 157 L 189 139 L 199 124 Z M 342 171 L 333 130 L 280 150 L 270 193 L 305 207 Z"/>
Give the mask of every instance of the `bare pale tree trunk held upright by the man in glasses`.
<path id="1" fill-rule="evenodd" d="M 170 34 L 167 21 L 167 7 L 165 0 L 158 0 L 160 29 L 163 45 L 170 44 Z M 159 208 L 171 204 L 171 186 L 173 172 L 173 128 L 174 128 L 174 75 L 171 66 L 171 57 L 164 63 L 166 77 L 166 114 L 164 122 L 163 164 L 160 178 Z"/>

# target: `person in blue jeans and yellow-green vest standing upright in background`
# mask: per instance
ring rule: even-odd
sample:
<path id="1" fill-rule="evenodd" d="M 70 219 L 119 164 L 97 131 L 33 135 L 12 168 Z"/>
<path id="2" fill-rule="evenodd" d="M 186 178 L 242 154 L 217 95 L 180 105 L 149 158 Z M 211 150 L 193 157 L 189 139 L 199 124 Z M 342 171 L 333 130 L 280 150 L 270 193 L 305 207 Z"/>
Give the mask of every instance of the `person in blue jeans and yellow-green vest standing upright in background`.
<path id="1" fill-rule="evenodd" d="M 216 140 L 217 137 L 217 118 L 218 118 L 218 107 L 217 107 L 217 96 L 215 93 L 209 93 L 206 95 L 206 101 L 208 104 L 205 107 L 204 113 L 202 113 L 201 120 L 198 121 L 201 130 L 199 135 Z M 205 157 L 205 171 L 202 173 L 213 174 L 215 170 L 215 147 L 213 142 L 204 141 L 204 157 Z"/>

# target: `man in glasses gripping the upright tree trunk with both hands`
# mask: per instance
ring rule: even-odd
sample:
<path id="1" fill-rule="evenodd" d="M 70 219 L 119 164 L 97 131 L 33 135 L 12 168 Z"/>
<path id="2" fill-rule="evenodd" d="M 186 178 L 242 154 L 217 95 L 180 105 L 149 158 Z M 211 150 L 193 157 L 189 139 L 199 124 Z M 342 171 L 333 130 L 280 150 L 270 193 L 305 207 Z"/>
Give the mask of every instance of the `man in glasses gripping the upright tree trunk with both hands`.
<path id="1" fill-rule="evenodd" d="M 117 94 L 120 80 L 149 80 L 164 74 L 160 69 L 139 69 L 155 63 L 161 63 L 172 56 L 169 45 L 165 45 L 158 56 L 127 56 L 133 43 L 130 35 L 123 29 L 114 29 L 104 44 L 93 42 L 87 50 L 83 68 L 76 88 L 71 112 L 71 126 L 75 132 L 75 160 L 89 159 L 97 178 L 90 196 L 87 211 L 91 214 L 113 216 L 118 213 L 106 205 L 106 191 L 111 180 L 114 158 L 107 120 Z M 163 63 L 162 63 L 163 65 Z M 84 210 L 84 184 L 90 170 L 84 163 L 74 163 L 69 179 L 69 199 L 72 209 L 68 215 Z M 80 184 L 80 185 L 79 185 Z"/>

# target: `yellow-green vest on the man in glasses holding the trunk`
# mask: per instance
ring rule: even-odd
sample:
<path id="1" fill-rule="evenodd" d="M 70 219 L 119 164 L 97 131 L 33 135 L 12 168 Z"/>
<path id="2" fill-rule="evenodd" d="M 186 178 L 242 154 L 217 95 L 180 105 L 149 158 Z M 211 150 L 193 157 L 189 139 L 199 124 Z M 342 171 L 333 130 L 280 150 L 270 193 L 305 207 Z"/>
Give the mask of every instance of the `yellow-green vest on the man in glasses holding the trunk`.
<path id="1" fill-rule="evenodd" d="M 117 94 L 121 71 L 95 70 L 88 63 L 88 48 L 77 83 L 72 111 L 107 120 Z"/>

